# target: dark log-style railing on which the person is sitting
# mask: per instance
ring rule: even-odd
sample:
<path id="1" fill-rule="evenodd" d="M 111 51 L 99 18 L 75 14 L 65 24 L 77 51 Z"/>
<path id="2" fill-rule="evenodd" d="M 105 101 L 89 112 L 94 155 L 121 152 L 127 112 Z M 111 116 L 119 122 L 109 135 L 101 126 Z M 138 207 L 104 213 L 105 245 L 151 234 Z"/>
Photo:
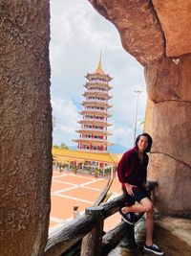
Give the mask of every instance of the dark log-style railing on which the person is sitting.
<path id="1" fill-rule="evenodd" d="M 149 182 L 154 190 L 157 182 Z M 81 256 L 101 256 L 109 248 L 114 247 L 127 232 L 130 225 L 121 222 L 116 228 L 103 234 L 103 222 L 115 214 L 124 205 L 124 197 L 119 196 L 99 206 L 92 206 L 85 210 L 85 216 L 72 221 L 68 226 L 60 228 L 48 239 L 44 256 L 60 256 L 81 239 Z"/>

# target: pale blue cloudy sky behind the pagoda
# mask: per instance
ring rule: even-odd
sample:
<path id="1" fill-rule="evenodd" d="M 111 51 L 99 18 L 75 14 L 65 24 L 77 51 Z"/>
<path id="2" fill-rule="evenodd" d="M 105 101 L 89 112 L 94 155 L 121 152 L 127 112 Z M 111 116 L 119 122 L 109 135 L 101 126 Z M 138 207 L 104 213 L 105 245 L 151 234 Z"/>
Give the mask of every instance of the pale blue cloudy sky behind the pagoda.
<path id="1" fill-rule="evenodd" d="M 137 94 L 138 120 L 144 119 L 146 86 L 143 67 L 126 53 L 115 26 L 99 15 L 87 0 L 51 0 L 51 97 L 55 127 L 53 144 L 75 146 L 78 137 L 78 111 L 82 109 L 87 73 L 96 70 L 100 51 L 102 67 L 114 78 L 108 120 L 113 126 L 109 141 L 127 148 L 133 146 Z M 139 121 L 138 121 L 139 123 Z M 138 132 L 142 127 L 138 126 Z"/>

